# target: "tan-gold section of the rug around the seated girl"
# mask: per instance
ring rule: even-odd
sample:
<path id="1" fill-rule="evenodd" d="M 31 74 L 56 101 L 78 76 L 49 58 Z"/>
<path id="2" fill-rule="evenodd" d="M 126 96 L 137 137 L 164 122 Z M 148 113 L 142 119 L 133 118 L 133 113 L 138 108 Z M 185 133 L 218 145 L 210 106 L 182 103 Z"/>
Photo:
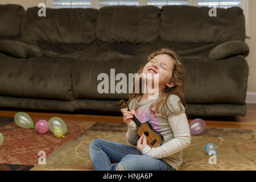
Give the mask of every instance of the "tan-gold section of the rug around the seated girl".
<path id="1" fill-rule="evenodd" d="M 89 145 L 101 138 L 129 144 L 125 138 L 125 123 L 95 123 L 90 129 L 61 146 L 47 158 L 46 165 L 31 170 L 92 170 Z M 255 130 L 206 128 L 204 133 L 192 136 L 191 145 L 183 150 L 179 170 L 256 170 Z M 217 164 L 209 164 L 205 145 L 217 147 Z"/>

